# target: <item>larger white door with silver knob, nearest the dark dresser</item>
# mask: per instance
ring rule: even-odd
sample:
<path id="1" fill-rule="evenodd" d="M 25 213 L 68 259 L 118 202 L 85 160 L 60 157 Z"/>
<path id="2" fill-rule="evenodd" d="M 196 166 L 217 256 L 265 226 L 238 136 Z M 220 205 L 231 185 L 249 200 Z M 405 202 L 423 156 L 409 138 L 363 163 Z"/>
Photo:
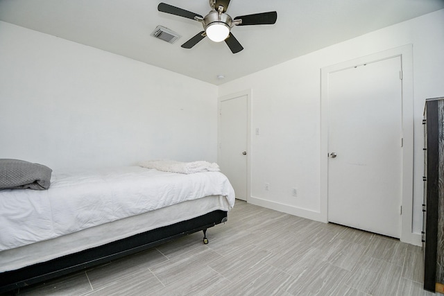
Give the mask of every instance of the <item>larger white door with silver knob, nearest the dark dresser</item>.
<path id="1" fill-rule="evenodd" d="M 400 57 L 330 73 L 328 220 L 400 237 Z M 336 157 L 332 155 L 336 154 Z"/>

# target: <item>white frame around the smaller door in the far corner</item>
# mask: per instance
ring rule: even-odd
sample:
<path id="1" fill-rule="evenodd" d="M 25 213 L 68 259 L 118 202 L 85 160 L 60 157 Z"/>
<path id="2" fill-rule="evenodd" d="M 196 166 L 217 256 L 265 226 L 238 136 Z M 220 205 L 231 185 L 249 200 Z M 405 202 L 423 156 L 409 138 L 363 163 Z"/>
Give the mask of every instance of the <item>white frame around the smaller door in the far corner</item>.
<path id="1" fill-rule="evenodd" d="M 251 89 L 246 89 L 234 94 L 220 96 L 217 99 L 217 162 L 221 161 L 221 103 L 223 101 L 239 98 L 239 96 L 247 97 L 247 184 L 246 184 L 246 200 L 251 196 Z"/>

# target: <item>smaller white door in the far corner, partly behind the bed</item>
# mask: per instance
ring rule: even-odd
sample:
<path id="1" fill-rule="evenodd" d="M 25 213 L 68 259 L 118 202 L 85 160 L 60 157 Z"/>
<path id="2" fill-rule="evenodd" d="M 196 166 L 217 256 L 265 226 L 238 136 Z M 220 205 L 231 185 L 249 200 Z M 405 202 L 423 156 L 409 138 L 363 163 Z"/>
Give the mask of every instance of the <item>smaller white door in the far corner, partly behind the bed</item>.
<path id="1" fill-rule="evenodd" d="M 219 166 L 234 188 L 236 198 L 247 199 L 247 96 L 221 101 Z"/>

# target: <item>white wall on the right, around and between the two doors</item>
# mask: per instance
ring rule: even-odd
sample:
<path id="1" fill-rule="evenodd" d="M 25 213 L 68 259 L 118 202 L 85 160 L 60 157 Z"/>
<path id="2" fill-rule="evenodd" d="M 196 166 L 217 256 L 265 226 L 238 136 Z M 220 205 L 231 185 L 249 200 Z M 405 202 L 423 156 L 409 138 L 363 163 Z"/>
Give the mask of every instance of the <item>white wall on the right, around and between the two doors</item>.
<path id="1" fill-rule="evenodd" d="M 321 68 L 413 44 L 413 233 L 422 228 L 422 111 L 444 96 L 444 10 L 329 46 L 219 86 L 219 97 L 252 90 L 250 202 L 316 218 L 321 211 Z M 269 191 L 264 183 L 270 184 Z M 298 188 L 298 197 L 291 188 Z"/>

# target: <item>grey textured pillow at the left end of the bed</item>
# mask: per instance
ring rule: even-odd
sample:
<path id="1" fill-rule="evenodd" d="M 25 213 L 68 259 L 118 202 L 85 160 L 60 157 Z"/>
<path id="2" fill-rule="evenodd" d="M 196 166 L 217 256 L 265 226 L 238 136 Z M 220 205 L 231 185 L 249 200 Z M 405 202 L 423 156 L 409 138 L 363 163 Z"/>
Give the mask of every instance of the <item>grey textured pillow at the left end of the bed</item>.
<path id="1" fill-rule="evenodd" d="M 18 159 L 0 159 L 1 189 L 48 189 L 51 168 Z"/>

